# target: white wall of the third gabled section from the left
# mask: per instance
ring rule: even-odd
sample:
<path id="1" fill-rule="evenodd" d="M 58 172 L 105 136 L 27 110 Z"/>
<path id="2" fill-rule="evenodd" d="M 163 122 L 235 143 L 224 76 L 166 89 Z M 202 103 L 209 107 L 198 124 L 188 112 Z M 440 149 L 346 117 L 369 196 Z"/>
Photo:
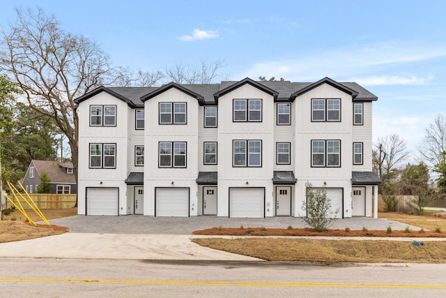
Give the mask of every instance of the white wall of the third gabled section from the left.
<path id="1" fill-rule="evenodd" d="M 262 99 L 261 122 L 233 122 L 233 99 Z M 265 215 L 273 216 L 272 172 L 274 163 L 274 98 L 245 84 L 218 101 L 217 215 L 229 216 L 230 187 L 264 187 Z M 233 140 L 261 140 L 261 167 L 233 167 Z M 248 182 L 248 184 L 246 184 Z"/>

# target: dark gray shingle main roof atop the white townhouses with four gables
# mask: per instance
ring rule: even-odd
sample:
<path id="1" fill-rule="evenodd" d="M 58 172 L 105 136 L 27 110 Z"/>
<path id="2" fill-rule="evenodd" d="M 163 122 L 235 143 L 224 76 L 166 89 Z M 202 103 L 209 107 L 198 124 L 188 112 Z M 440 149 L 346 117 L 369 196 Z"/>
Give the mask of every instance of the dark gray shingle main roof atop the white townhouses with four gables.
<path id="1" fill-rule="evenodd" d="M 121 100 L 124 100 L 131 107 L 144 107 L 144 103 L 141 98 L 146 97 L 148 94 L 156 94 L 157 90 L 163 90 L 169 85 L 175 84 L 185 91 L 190 91 L 192 95 L 199 96 L 200 100 L 203 100 L 205 105 L 215 105 L 215 96 L 224 94 L 225 91 L 231 90 L 231 87 L 239 86 L 240 84 L 253 84 L 256 87 L 263 88 L 270 94 L 272 94 L 277 101 L 292 101 L 293 94 L 300 94 L 300 91 L 305 91 L 308 88 L 312 88 L 312 85 L 316 86 L 319 83 L 328 82 L 334 84 L 337 88 L 344 89 L 348 93 L 352 93 L 357 96 L 353 96 L 355 101 L 370 101 L 377 100 L 378 97 L 372 94 L 370 91 L 360 86 L 355 82 L 335 82 L 334 80 L 325 77 L 318 82 L 290 82 L 290 81 L 254 81 L 249 78 L 245 78 L 241 81 L 222 81 L 219 84 L 164 84 L 160 87 L 98 87 L 88 94 L 76 98 L 75 103 L 81 103 L 82 101 L 98 94 L 100 91 L 106 91 Z M 351 92 L 353 91 L 353 92 Z M 203 98 L 203 99 L 201 99 Z"/>

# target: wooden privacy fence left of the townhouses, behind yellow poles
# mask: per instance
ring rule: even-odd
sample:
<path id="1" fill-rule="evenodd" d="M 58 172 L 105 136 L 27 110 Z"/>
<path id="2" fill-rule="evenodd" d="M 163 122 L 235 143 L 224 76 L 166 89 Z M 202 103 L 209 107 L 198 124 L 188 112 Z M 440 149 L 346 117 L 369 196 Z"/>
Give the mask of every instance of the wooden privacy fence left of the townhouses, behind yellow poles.
<path id="1" fill-rule="evenodd" d="M 22 194 L 26 200 L 25 194 Z M 63 209 L 63 208 L 72 208 L 75 207 L 76 204 L 76 195 L 55 195 L 50 193 L 30 193 L 29 196 L 36 203 L 39 209 Z M 17 198 L 20 199 L 20 203 L 24 207 L 24 209 L 31 209 L 29 204 L 26 204 L 20 195 L 17 195 Z M 15 198 L 11 198 L 15 202 Z M 6 202 L 6 208 L 11 205 L 10 202 Z"/>

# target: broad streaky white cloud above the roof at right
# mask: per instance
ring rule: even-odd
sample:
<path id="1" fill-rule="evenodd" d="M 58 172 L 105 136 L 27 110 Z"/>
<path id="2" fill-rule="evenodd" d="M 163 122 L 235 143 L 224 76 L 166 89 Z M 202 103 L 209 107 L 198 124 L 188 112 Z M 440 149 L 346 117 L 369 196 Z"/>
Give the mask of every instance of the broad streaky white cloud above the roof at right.
<path id="1" fill-rule="evenodd" d="M 379 43 L 374 45 L 351 45 L 337 50 L 321 51 L 296 59 L 263 61 L 254 64 L 237 77 L 284 77 L 295 82 L 314 82 L 322 77 L 343 81 L 364 74 L 380 73 L 387 68 L 401 66 L 417 61 L 446 57 L 446 45 L 417 45 L 408 43 Z M 389 70 L 387 70 L 388 72 Z M 396 70 L 393 70 L 396 72 Z M 408 73 L 406 71 L 406 73 Z M 364 77 L 372 84 L 423 84 L 433 77 L 416 75 L 383 75 Z M 374 80 L 373 80 L 374 79 Z M 365 83 L 363 83 L 365 84 Z"/>

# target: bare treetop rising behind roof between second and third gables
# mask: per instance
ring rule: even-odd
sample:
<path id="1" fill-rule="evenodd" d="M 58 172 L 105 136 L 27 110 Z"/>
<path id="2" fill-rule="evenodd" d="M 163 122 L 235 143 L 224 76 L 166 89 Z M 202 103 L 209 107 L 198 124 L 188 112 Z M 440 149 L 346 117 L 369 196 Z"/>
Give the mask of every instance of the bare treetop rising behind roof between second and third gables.
<path id="1" fill-rule="evenodd" d="M 223 67 L 223 61 L 216 61 L 208 64 L 206 60 L 201 60 L 201 67 L 192 68 L 184 64 L 176 64 L 171 68 L 166 68 L 167 79 L 178 84 L 210 84 L 218 77 L 218 70 Z"/>

